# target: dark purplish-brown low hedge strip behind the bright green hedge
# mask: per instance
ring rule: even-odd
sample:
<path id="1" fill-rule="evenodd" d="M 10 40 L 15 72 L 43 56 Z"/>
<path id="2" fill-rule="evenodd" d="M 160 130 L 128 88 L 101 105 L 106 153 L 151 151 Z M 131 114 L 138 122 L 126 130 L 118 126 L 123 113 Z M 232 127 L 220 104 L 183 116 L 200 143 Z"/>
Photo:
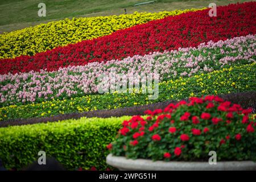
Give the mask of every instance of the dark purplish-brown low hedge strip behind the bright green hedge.
<path id="1" fill-rule="evenodd" d="M 256 110 L 256 92 L 242 92 L 242 93 L 230 93 L 219 95 L 222 99 L 230 101 L 232 103 L 240 104 L 243 108 L 253 108 L 253 112 Z M 187 99 L 185 99 L 187 101 Z M 145 110 L 164 109 L 169 104 L 176 104 L 178 101 L 168 100 L 164 102 L 158 102 L 154 104 L 125 107 L 111 110 L 93 110 L 84 113 L 69 113 L 53 115 L 52 117 L 43 118 L 26 118 L 26 119 L 10 119 L 7 121 L 0 122 L 0 127 L 14 126 L 14 125 L 28 125 L 34 123 L 46 123 L 55 122 L 65 119 L 79 119 L 81 117 L 98 117 L 98 118 L 109 118 L 109 117 L 121 117 L 123 115 L 143 115 Z"/>

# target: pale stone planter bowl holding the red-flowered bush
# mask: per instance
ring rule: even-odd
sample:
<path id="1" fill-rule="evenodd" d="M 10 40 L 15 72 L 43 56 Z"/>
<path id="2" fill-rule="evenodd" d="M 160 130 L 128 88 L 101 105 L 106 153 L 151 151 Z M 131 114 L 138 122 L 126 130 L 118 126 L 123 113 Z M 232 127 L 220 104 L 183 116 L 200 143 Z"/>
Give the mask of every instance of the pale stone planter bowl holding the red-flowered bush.
<path id="1" fill-rule="evenodd" d="M 210 165 L 208 162 L 163 162 L 148 159 L 126 159 L 122 156 L 109 154 L 106 163 L 125 171 L 235 171 L 235 170 L 255 170 L 256 162 L 252 161 L 230 161 L 217 162 Z"/>

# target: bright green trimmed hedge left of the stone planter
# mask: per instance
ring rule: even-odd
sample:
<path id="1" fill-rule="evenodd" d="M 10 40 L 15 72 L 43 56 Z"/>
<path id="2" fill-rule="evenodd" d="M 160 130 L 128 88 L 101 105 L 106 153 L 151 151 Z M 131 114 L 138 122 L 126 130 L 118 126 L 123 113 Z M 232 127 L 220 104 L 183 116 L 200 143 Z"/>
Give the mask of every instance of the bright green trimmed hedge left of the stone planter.
<path id="1" fill-rule="evenodd" d="M 7 169 L 22 169 L 37 161 L 43 150 L 66 169 L 106 169 L 106 146 L 129 118 L 80 118 L 0 128 L 0 159 Z"/>

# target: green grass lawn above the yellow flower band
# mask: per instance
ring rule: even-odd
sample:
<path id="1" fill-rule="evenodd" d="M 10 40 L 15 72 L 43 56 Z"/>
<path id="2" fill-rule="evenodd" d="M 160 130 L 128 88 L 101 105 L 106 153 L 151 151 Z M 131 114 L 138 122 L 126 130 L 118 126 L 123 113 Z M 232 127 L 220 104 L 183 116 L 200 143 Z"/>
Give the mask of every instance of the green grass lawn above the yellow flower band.
<path id="1" fill-rule="evenodd" d="M 0 33 L 74 16 L 119 15 L 125 12 L 124 9 L 127 13 L 158 12 L 207 7 L 211 2 L 216 3 L 217 6 L 246 2 L 245 0 L 157 0 L 147 5 L 134 6 L 136 3 L 148 1 L 152 0 L 0 0 Z M 46 17 L 38 16 L 40 2 L 46 4 Z"/>

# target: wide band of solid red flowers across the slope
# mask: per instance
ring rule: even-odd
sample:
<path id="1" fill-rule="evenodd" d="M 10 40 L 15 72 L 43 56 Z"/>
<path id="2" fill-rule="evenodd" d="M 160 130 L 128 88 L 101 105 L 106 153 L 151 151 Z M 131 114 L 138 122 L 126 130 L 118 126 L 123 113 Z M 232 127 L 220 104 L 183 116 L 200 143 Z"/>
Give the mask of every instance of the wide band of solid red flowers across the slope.
<path id="1" fill-rule="evenodd" d="M 218 16 L 208 10 L 189 12 L 119 30 L 112 35 L 59 47 L 35 56 L 0 60 L 0 73 L 55 71 L 68 65 L 123 59 L 128 56 L 180 47 L 196 47 L 212 40 L 256 34 L 255 2 L 218 7 Z M 234 21 L 234 19 L 236 19 Z"/>

